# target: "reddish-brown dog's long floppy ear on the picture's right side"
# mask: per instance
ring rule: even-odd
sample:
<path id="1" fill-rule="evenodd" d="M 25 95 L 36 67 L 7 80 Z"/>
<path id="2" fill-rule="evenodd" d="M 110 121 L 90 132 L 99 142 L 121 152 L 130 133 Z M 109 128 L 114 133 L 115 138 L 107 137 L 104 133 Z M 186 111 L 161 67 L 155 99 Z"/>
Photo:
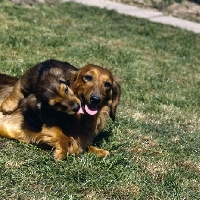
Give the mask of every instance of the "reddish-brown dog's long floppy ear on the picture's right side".
<path id="1" fill-rule="evenodd" d="M 117 105 L 119 104 L 120 96 L 121 96 L 121 86 L 120 83 L 122 80 L 119 77 L 113 76 L 114 81 L 112 85 L 112 90 L 110 93 L 110 117 L 114 121 L 115 120 L 115 113 L 117 109 Z"/>

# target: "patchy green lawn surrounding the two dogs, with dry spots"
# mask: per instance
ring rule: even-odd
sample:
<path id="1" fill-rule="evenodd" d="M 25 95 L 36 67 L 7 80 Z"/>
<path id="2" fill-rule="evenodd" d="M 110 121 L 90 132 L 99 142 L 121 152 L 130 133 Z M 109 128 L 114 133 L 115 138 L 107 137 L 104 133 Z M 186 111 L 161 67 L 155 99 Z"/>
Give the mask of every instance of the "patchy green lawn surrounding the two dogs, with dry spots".
<path id="1" fill-rule="evenodd" d="M 1 1 L 0 71 L 20 77 L 49 58 L 120 76 L 117 120 L 62 162 L 0 138 L 1 199 L 200 199 L 200 35 L 75 3 Z"/>

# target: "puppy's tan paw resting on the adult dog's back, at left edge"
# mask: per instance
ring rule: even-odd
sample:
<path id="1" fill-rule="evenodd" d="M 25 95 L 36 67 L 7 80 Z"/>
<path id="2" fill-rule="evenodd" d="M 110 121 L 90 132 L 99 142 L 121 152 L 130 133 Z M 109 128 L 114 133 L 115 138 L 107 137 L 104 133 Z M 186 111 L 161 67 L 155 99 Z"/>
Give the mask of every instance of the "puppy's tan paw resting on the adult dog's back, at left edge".
<path id="1" fill-rule="evenodd" d="M 0 111 L 3 112 L 4 115 L 13 113 L 18 107 L 18 101 L 12 101 L 10 99 L 6 99 L 2 104 Z"/>

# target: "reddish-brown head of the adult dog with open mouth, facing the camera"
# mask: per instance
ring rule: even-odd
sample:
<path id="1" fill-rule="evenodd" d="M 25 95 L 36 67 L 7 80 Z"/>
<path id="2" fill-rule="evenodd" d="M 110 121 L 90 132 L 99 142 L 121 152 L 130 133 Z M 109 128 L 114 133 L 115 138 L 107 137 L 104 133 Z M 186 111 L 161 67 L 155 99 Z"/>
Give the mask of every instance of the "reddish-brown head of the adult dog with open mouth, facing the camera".
<path id="1" fill-rule="evenodd" d="M 81 100 L 81 112 L 95 115 L 107 105 L 110 107 L 110 117 L 114 120 L 121 94 L 120 79 L 109 70 L 92 64 L 76 72 L 75 77 L 70 87 Z"/>

